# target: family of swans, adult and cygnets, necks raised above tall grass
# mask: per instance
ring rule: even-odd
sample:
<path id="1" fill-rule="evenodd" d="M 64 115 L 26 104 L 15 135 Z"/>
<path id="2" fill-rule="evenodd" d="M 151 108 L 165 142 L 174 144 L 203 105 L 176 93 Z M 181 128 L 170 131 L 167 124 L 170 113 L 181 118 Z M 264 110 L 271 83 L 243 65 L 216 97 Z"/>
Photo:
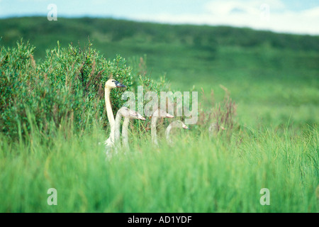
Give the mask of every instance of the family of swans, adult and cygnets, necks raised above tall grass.
<path id="1" fill-rule="evenodd" d="M 108 79 L 105 84 L 105 104 L 106 104 L 106 113 L 108 117 L 108 123 L 110 124 L 111 133 L 108 139 L 104 142 L 106 145 L 106 150 L 110 150 L 111 148 L 118 148 L 121 147 L 121 119 L 124 118 L 123 126 L 122 126 L 122 144 L 125 150 L 129 150 L 129 143 L 128 143 L 128 125 L 131 119 L 138 119 L 141 121 L 145 121 L 146 119 L 139 114 L 137 111 L 128 109 L 128 107 L 122 107 L 116 113 L 116 118 L 114 118 L 113 110 L 111 106 L 111 89 L 126 87 L 125 85 L 118 82 L 116 79 Z M 152 113 L 152 124 L 151 124 L 151 135 L 152 135 L 152 143 L 158 146 L 157 141 L 157 120 L 158 118 L 174 118 L 171 114 L 167 114 L 166 111 L 162 109 L 157 109 Z M 188 127 L 181 121 L 173 121 L 169 124 L 166 130 L 166 138 L 167 142 L 172 144 L 172 140 L 170 139 L 169 133 L 172 128 L 185 128 Z"/>

